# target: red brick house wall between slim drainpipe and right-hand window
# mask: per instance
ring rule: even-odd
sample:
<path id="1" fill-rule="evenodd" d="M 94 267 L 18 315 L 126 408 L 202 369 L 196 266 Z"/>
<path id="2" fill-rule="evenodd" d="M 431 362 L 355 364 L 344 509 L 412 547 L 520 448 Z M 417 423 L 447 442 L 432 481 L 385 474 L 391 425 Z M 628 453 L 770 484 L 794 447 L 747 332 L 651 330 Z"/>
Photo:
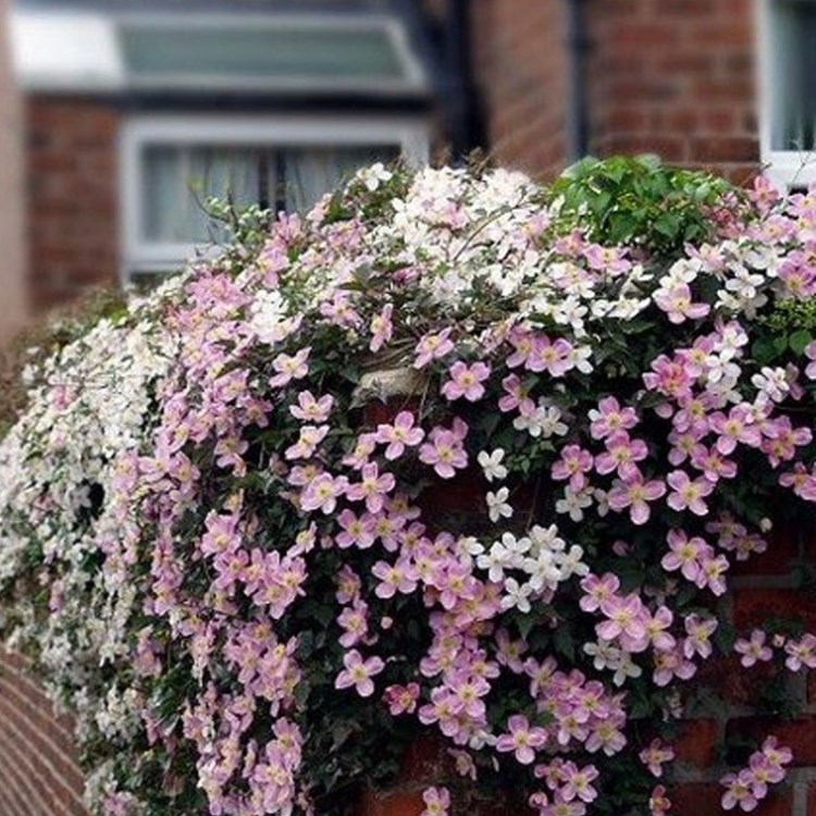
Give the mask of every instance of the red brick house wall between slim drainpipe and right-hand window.
<path id="1" fill-rule="evenodd" d="M 754 0 L 586 0 L 591 149 L 744 181 L 759 163 Z"/>

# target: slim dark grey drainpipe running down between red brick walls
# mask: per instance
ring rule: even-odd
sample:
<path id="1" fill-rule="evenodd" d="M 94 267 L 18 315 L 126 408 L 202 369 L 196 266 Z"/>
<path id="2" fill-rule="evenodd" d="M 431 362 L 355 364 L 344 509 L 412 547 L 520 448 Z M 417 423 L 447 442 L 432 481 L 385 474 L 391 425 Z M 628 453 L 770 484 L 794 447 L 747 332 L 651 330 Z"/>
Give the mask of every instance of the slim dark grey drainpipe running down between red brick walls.
<path id="1" fill-rule="evenodd" d="M 586 87 L 585 0 L 565 0 L 567 14 L 567 161 L 571 164 L 590 151 L 590 116 Z"/>

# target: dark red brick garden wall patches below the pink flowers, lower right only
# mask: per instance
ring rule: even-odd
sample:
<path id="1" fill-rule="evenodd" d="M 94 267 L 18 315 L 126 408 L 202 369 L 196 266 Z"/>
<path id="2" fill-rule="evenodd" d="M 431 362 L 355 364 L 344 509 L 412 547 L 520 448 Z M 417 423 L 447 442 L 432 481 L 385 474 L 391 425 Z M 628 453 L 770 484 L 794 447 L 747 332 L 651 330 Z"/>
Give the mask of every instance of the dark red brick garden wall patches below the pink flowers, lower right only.
<path id="1" fill-rule="evenodd" d="M 795 564 L 813 565 L 814 544 L 816 537 L 808 530 L 780 528 L 766 554 L 735 567 L 731 592 L 721 602 L 720 611 L 737 626 L 739 635 L 746 636 L 752 627 L 762 627 L 770 617 L 799 619 L 808 631 L 816 632 L 816 591 L 799 588 L 793 573 Z M 801 714 L 794 719 L 750 713 L 746 706 L 762 677 L 763 668 L 744 669 L 735 657 L 729 657 L 703 664 L 691 681 L 691 685 L 705 684 L 718 691 L 733 705 L 728 708 L 715 703 L 705 715 L 690 717 L 682 725 L 679 739 L 672 743 L 676 761 L 669 766 L 671 778 L 655 780 L 667 788 L 672 816 L 724 816 L 727 812 L 720 799 L 725 789 L 719 783 L 727 771 L 724 745 L 734 740 L 751 740 L 758 745 L 769 734 L 793 751 L 793 762 L 786 781 L 770 787 L 753 816 L 816 816 L 816 671 L 787 675 L 787 693 L 801 705 Z M 453 780 L 444 751 L 433 741 L 422 743 L 404 762 L 397 784 L 363 798 L 360 816 L 419 816 L 422 790 L 444 784 L 446 778 Z M 461 782 L 455 786 L 459 788 Z M 469 803 L 468 813 L 533 816 L 535 812 L 503 799 L 493 804 Z"/>

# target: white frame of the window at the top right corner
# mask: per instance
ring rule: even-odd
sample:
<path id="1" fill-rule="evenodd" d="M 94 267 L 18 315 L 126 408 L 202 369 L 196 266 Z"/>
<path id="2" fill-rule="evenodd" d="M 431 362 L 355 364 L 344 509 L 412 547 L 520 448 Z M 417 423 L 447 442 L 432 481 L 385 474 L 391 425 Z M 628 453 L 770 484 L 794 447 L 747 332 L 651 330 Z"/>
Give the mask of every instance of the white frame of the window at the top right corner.
<path id="1" fill-rule="evenodd" d="M 775 65 L 774 9 L 777 0 L 755 0 L 757 86 L 759 95 L 759 156 L 763 173 L 782 193 L 816 183 L 816 150 L 803 153 L 774 148 L 775 101 L 778 79 Z"/>

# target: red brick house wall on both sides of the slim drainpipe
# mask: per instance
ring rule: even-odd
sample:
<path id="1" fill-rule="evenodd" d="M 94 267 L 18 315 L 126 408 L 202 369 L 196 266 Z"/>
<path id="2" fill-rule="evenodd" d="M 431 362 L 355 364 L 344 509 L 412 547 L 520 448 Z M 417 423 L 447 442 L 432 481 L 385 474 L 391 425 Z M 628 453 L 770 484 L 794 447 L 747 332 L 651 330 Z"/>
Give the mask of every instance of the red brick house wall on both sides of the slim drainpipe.
<path id="1" fill-rule="evenodd" d="M 590 151 L 654 152 L 742 182 L 759 164 L 753 0 L 584 0 Z M 566 161 L 565 3 L 473 3 L 495 159 L 535 176 Z"/>

